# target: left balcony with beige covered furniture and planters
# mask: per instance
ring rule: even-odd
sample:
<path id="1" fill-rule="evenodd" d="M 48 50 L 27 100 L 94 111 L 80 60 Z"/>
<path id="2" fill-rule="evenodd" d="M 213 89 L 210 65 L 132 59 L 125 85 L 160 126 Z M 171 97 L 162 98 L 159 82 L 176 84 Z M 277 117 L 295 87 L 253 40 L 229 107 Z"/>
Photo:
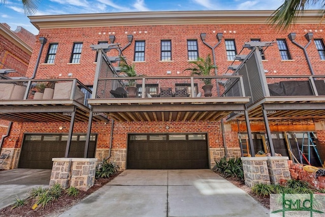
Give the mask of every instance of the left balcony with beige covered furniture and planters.
<path id="1" fill-rule="evenodd" d="M 15 122 L 87 122 L 91 90 L 77 79 L 0 80 L 0 118 Z M 105 120 L 95 116 L 94 120 Z"/>

